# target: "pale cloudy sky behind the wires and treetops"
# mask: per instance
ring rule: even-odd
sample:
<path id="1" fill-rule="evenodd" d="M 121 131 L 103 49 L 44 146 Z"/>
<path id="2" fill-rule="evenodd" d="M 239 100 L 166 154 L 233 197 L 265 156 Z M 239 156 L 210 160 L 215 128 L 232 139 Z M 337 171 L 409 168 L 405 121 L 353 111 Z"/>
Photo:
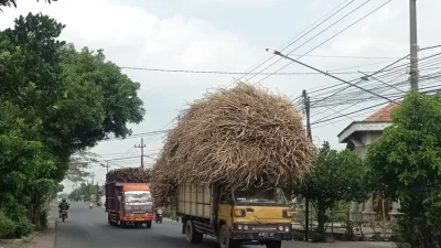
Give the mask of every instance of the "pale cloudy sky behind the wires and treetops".
<path id="1" fill-rule="evenodd" d="M 323 21 L 330 11 L 340 9 L 337 14 Z M 440 44 L 441 21 L 437 13 L 441 12 L 441 1 L 417 1 L 417 10 L 419 46 Z M 290 44 L 284 53 L 297 57 L 309 52 L 301 62 L 326 72 L 348 73 L 338 74 L 347 80 L 362 77 L 357 71 L 379 69 L 409 53 L 407 0 L 58 0 L 52 4 L 23 0 L 18 1 L 18 9 L 3 9 L 0 29 L 13 26 L 15 18 L 29 12 L 55 18 L 66 24 L 63 40 L 73 42 L 78 50 L 84 46 L 95 51 L 104 48 L 107 60 L 121 67 L 249 72 L 262 60 L 271 57 L 266 48 Z M 323 24 L 305 34 L 313 23 L 320 23 L 318 20 Z M 304 35 L 293 39 L 299 33 Z M 273 57 L 254 73 L 270 74 L 287 64 L 286 60 Z M 128 68 L 122 72 L 141 84 L 139 97 L 147 110 L 140 125 L 130 126 L 133 133 L 173 127 L 174 118 L 189 103 L 202 98 L 213 88 L 230 86 L 238 78 L 286 95 L 294 103 L 303 89 L 311 91 L 341 83 L 320 74 L 244 76 Z M 290 64 L 279 73 L 311 72 Z M 406 73 L 402 68 L 404 76 Z M 312 122 L 335 116 L 338 106 L 332 103 L 329 106 L 325 111 L 312 107 Z M 361 103 L 352 108 L 365 107 L 369 105 Z M 363 120 L 380 107 L 351 118 L 313 125 L 314 143 L 330 141 L 336 149 L 345 148 L 338 143 L 337 134 L 352 121 Z M 103 141 L 92 151 L 99 154 L 101 161 L 111 160 L 110 170 L 139 166 L 141 150 L 135 145 L 140 143 L 141 137 L 148 154 L 144 163 L 151 166 L 162 147 L 163 134 Z M 94 180 L 104 183 L 105 168 L 92 164 L 90 172 L 95 174 Z M 68 192 L 71 184 L 66 182 L 65 185 Z"/>

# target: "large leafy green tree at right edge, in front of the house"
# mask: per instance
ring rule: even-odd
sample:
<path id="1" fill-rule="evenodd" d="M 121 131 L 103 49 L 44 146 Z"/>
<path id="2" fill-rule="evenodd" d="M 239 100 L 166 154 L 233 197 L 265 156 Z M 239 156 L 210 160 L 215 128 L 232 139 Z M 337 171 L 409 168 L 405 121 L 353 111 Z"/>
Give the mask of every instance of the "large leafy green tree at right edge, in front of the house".
<path id="1" fill-rule="evenodd" d="M 392 125 L 369 147 L 378 191 L 400 200 L 398 220 L 412 248 L 440 247 L 441 94 L 411 91 L 392 112 Z"/>

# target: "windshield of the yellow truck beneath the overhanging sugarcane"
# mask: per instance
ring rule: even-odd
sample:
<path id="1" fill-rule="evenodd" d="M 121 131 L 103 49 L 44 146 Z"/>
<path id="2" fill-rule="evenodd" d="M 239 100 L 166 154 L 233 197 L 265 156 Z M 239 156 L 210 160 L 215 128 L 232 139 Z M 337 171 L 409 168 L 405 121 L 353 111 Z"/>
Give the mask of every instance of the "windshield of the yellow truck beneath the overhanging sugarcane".
<path id="1" fill-rule="evenodd" d="M 237 205 L 286 205 L 283 193 L 276 188 L 248 188 L 235 192 Z"/>

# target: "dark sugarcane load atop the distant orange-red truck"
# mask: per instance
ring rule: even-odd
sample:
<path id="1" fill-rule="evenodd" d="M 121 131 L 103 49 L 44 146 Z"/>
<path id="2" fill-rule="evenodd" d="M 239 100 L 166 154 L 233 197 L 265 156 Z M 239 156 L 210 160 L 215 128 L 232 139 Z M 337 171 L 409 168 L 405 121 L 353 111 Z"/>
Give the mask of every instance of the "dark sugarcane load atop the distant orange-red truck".
<path id="1" fill-rule="evenodd" d="M 106 182 L 150 183 L 150 170 L 141 168 L 120 168 L 109 171 L 106 174 Z"/>

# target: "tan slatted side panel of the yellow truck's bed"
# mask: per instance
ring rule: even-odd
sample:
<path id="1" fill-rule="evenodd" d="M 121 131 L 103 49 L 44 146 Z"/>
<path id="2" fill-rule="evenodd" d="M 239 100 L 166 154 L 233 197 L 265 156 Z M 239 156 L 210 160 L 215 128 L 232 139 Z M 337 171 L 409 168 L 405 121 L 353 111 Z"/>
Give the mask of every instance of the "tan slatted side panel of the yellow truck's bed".
<path id="1" fill-rule="evenodd" d="M 208 183 L 185 183 L 179 186 L 180 215 L 192 215 L 202 218 L 212 218 L 212 187 Z"/>

